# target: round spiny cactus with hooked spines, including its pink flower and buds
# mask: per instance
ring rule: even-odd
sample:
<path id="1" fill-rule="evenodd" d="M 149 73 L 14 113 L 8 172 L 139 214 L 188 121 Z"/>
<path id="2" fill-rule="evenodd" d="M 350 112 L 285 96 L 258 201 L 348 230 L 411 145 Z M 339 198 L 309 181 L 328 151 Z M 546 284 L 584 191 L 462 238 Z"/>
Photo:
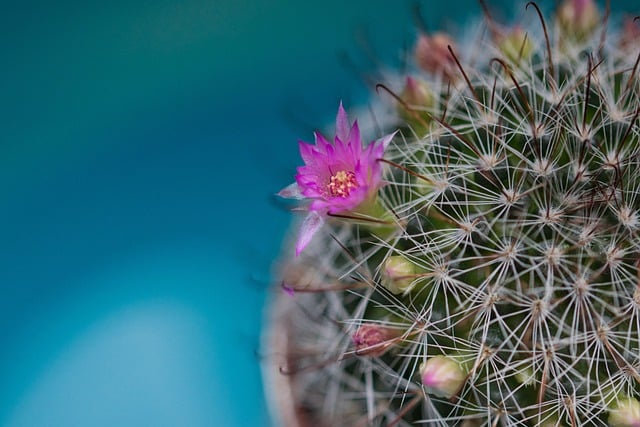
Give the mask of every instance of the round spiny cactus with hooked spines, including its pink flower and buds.
<path id="1" fill-rule="evenodd" d="M 421 34 L 377 87 L 395 134 L 363 144 L 341 106 L 300 145 L 267 344 L 286 425 L 640 425 L 637 19 L 484 10 L 468 50 Z"/>

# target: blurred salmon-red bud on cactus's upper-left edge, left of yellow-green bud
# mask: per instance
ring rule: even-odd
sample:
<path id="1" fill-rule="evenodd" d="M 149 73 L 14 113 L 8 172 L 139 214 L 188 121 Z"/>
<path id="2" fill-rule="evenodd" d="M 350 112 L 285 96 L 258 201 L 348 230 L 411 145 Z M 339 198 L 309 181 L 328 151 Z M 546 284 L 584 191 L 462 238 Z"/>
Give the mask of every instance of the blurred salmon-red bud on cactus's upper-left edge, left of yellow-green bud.
<path id="1" fill-rule="evenodd" d="M 418 66 L 430 74 L 442 76 L 450 81 L 455 80 L 458 70 L 449 46 L 456 50 L 453 40 L 447 34 L 420 35 L 415 50 Z"/>

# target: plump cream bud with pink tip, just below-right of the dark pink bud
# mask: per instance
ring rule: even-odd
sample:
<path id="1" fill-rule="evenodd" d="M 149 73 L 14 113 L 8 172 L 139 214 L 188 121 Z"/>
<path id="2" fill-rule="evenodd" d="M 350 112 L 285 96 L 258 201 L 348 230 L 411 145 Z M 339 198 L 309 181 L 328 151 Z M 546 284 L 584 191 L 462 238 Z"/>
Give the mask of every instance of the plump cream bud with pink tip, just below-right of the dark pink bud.
<path id="1" fill-rule="evenodd" d="M 420 366 L 422 385 L 428 393 L 451 398 L 464 385 L 468 372 L 457 360 L 447 356 L 434 356 Z"/>

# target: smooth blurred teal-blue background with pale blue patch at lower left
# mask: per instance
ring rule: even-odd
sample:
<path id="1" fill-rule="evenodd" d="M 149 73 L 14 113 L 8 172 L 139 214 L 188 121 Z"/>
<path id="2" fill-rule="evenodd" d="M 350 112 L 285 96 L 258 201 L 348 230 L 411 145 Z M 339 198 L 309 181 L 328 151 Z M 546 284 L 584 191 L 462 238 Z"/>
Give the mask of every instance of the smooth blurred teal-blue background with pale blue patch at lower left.
<path id="1" fill-rule="evenodd" d="M 298 137 L 366 100 L 339 53 L 411 44 L 394 3 L 2 4 L 0 425 L 268 425 L 271 194 Z M 431 28 L 479 11 L 423 3 Z"/>

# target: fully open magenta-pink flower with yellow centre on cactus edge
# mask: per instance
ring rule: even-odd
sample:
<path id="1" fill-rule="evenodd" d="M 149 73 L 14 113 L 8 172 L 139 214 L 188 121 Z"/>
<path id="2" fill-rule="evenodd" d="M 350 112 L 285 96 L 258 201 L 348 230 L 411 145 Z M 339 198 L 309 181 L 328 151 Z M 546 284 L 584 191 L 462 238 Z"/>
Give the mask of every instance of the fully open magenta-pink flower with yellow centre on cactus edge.
<path id="1" fill-rule="evenodd" d="M 375 198 L 382 186 L 382 165 L 378 159 L 392 138 L 393 134 L 387 135 L 363 146 L 358 123 L 349 124 L 340 103 L 333 143 L 319 132 L 315 133 L 315 145 L 299 142 L 305 165 L 298 168 L 296 182 L 278 193 L 282 197 L 311 201 L 296 244 L 296 255 L 322 227 L 324 216 L 353 211 Z"/>

